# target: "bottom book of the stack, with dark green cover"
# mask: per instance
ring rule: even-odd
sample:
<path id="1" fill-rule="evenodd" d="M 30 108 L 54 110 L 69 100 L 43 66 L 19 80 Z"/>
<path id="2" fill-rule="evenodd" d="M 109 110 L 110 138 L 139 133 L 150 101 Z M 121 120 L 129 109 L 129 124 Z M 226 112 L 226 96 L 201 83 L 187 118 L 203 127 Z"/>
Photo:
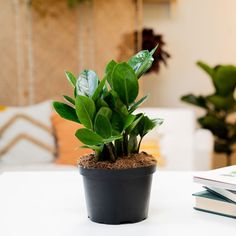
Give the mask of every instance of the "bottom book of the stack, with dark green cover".
<path id="1" fill-rule="evenodd" d="M 195 196 L 194 209 L 236 218 L 236 204 L 208 191 L 193 194 Z"/>

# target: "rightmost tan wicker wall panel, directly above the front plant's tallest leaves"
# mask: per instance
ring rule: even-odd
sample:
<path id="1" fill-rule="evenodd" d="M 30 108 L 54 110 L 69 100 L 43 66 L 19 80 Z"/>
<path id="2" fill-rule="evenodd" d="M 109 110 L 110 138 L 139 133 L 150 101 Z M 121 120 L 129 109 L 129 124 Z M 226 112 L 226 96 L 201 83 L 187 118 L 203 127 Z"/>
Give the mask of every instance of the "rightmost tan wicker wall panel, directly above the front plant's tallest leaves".
<path id="1" fill-rule="evenodd" d="M 95 64 L 99 74 L 111 59 L 127 59 L 134 52 L 134 38 L 128 43 L 130 50 L 120 56 L 120 46 L 125 35 L 132 36 L 137 29 L 136 1 L 94 0 Z"/>

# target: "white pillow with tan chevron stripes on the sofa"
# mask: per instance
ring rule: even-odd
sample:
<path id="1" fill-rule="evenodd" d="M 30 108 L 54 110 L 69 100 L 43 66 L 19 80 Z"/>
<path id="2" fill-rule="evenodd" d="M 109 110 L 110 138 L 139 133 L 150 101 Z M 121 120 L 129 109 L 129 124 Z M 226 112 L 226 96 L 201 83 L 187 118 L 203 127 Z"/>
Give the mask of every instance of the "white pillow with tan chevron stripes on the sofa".
<path id="1" fill-rule="evenodd" d="M 51 113 L 51 101 L 0 110 L 0 166 L 54 160 Z"/>

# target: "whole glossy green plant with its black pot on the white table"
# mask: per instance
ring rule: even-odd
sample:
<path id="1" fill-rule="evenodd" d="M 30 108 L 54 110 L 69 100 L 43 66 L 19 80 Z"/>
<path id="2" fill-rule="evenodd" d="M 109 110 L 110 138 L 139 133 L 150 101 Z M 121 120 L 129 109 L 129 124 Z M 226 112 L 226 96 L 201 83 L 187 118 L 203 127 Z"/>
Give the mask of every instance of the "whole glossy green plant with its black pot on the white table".
<path id="1" fill-rule="evenodd" d="M 140 153 L 140 144 L 163 120 L 135 110 L 148 97 L 136 101 L 138 79 L 151 67 L 155 50 L 141 51 L 128 62 L 110 61 L 101 81 L 92 70 L 84 70 L 77 79 L 66 72 L 74 98 L 64 96 L 69 104 L 53 102 L 61 117 L 84 126 L 75 135 L 84 148 L 94 151 L 78 161 L 92 221 L 121 224 L 147 218 L 156 160 Z"/>

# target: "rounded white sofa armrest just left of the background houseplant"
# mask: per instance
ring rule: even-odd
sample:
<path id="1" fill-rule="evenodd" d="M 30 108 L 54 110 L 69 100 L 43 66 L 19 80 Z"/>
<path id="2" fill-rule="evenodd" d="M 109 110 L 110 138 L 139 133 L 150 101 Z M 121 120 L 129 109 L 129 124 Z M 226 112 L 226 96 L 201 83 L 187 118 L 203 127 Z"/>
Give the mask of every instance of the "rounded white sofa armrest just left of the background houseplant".
<path id="1" fill-rule="evenodd" d="M 211 169 L 213 150 L 213 134 L 207 129 L 197 129 L 194 134 L 194 170 Z"/>

